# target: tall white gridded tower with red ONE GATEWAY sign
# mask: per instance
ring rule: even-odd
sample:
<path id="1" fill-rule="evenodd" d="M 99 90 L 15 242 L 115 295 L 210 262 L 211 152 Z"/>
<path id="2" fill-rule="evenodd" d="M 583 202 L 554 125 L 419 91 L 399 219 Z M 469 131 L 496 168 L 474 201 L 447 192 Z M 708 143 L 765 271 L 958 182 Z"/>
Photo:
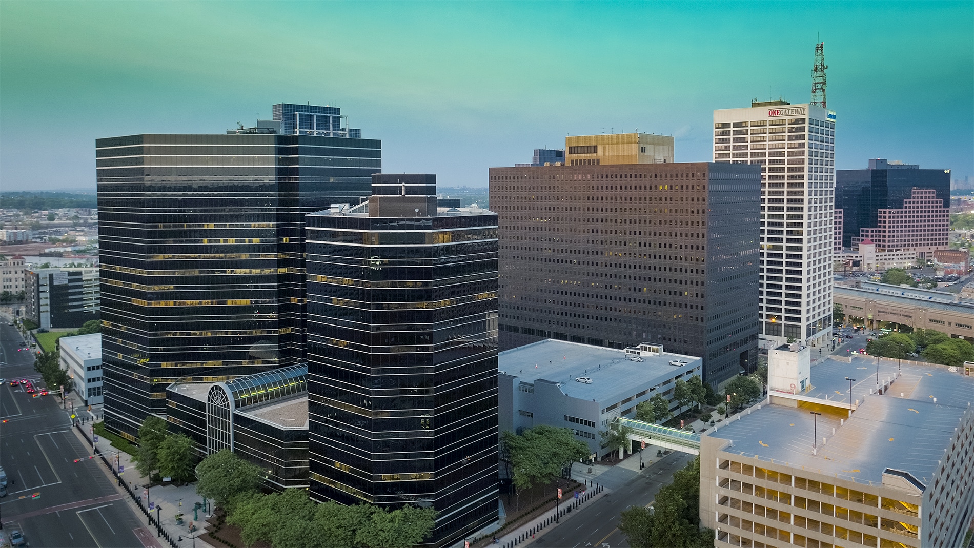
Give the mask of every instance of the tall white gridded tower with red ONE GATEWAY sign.
<path id="1" fill-rule="evenodd" d="M 762 347 L 818 346 L 832 325 L 836 113 L 754 102 L 714 111 L 714 162 L 761 164 Z"/>

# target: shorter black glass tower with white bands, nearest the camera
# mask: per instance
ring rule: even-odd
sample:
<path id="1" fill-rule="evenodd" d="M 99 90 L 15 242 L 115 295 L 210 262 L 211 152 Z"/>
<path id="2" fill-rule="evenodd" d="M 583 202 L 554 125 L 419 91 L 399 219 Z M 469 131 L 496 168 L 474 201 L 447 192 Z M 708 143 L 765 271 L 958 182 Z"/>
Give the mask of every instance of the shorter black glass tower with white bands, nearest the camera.
<path id="1" fill-rule="evenodd" d="M 307 217 L 311 496 L 432 506 L 443 546 L 497 519 L 497 215 L 434 175 Z"/>

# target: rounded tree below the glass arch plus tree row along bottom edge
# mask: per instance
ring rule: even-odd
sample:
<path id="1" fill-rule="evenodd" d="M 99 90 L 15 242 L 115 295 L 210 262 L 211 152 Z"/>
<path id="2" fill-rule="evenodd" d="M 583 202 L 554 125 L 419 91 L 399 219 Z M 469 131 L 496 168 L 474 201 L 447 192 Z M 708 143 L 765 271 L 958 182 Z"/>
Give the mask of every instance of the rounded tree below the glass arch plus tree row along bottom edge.
<path id="1" fill-rule="evenodd" d="M 196 492 L 215 500 L 247 546 L 409 548 L 429 538 L 435 525 L 432 508 L 316 504 L 303 489 L 260 493 L 262 470 L 229 450 L 204 458 L 196 475 Z"/>

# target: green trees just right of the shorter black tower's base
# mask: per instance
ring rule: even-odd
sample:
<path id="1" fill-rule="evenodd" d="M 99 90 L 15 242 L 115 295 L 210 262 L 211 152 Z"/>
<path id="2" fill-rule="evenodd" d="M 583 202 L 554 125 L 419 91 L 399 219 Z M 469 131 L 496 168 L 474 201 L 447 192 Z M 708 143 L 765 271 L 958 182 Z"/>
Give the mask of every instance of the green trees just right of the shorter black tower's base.
<path id="1" fill-rule="evenodd" d="M 588 457 L 588 445 L 575 439 L 568 428 L 539 424 L 520 434 L 501 434 L 502 458 L 517 491 L 546 486 L 555 479 L 571 475 L 572 465 Z"/>

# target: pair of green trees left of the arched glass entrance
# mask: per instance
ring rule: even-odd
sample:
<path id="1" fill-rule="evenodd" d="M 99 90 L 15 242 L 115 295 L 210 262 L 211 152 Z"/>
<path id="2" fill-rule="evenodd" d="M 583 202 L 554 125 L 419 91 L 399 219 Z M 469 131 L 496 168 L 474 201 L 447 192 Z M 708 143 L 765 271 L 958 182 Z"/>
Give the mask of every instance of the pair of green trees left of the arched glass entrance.
<path id="1" fill-rule="evenodd" d="M 158 471 L 175 483 L 193 480 L 196 442 L 185 434 L 167 431 L 167 421 L 150 415 L 138 427 L 138 453 L 132 456 L 135 469 L 146 478 Z"/>

